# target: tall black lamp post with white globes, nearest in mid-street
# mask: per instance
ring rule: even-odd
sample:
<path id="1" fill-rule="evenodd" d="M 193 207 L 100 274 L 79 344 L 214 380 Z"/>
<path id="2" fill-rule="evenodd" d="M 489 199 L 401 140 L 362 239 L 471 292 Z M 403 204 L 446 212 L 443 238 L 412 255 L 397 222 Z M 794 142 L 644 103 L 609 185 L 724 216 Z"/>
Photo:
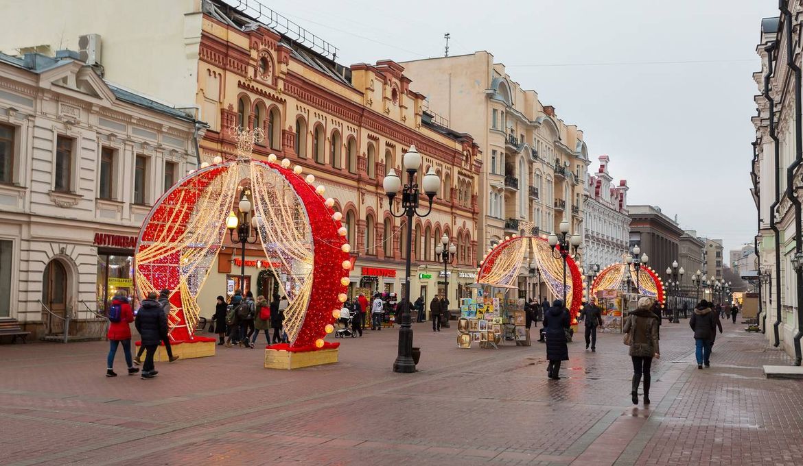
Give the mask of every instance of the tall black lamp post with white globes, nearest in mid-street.
<path id="1" fill-rule="evenodd" d="M 406 247 L 406 269 L 405 269 L 405 308 L 402 313 L 402 328 L 399 329 L 399 347 L 396 361 L 393 363 L 393 372 L 415 372 L 415 363 L 413 362 L 413 327 L 410 324 L 410 253 L 412 253 L 412 236 L 413 236 L 413 217 L 426 217 L 432 212 L 432 201 L 438 195 L 441 188 L 441 179 L 434 172 L 433 168 L 424 175 L 423 188 L 426 197 L 429 200 L 429 209 L 426 213 L 418 213 L 418 180 L 416 180 L 416 172 L 421 167 L 421 154 L 415 150 L 415 146 L 410 146 L 410 149 L 404 155 L 402 160 L 405 171 L 407 172 L 407 183 L 402 188 L 402 179 L 396 174 L 393 168 L 390 169 L 385 180 L 382 181 L 382 186 L 385 188 L 385 195 L 389 199 L 389 210 L 393 217 L 402 218 L 407 217 L 407 244 Z M 402 211 L 400 213 L 393 212 L 393 199 L 396 197 L 399 188 L 402 188 Z"/>

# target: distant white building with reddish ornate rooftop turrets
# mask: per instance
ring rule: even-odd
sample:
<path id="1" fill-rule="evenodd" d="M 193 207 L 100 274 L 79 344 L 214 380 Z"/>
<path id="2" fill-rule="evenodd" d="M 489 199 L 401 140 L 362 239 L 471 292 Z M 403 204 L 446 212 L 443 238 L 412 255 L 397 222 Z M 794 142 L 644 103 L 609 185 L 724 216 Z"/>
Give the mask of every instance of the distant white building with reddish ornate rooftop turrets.
<path id="1" fill-rule="evenodd" d="M 597 172 L 585 184 L 583 266 L 600 269 L 622 262 L 628 251 L 630 217 L 627 213 L 627 181 L 613 184 L 609 157 L 600 156 Z"/>

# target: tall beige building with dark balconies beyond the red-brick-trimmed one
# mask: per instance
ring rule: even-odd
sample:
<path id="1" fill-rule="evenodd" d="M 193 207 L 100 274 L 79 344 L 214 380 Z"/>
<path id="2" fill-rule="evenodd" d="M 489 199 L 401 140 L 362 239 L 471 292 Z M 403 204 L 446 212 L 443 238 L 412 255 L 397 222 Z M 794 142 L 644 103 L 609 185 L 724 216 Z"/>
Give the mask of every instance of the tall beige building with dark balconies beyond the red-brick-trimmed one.
<path id="1" fill-rule="evenodd" d="M 486 51 L 402 66 L 434 113 L 470 132 L 482 149 L 479 259 L 508 235 L 556 232 L 564 218 L 582 234 L 589 156 L 577 126 L 560 120 Z M 541 295 L 522 272 L 522 298 Z"/>

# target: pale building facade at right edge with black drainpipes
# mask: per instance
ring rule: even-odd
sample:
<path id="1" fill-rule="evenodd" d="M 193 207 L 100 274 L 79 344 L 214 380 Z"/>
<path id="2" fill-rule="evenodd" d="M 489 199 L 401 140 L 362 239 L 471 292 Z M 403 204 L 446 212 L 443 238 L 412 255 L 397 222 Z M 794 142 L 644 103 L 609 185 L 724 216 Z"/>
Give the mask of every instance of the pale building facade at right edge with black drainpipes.
<path id="1" fill-rule="evenodd" d="M 803 362 L 803 121 L 801 41 L 803 6 L 778 2 L 778 16 L 761 21 L 756 53 L 757 115 L 752 195 L 756 201 L 759 324 L 774 346 Z M 797 265 L 797 267 L 796 267 Z"/>

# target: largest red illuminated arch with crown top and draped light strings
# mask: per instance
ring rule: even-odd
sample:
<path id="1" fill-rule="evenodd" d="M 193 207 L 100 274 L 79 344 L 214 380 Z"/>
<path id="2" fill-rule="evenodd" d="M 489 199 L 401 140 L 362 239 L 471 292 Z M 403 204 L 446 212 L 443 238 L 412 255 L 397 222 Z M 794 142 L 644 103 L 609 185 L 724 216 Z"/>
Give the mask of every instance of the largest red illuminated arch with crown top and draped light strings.
<path id="1" fill-rule="evenodd" d="M 282 277 L 289 305 L 284 326 L 289 346 L 316 349 L 345 301 L 353 262 L 334 200 L 323 197 L 315 177 L 303 178 L 290 160 L 275 163 L 241 157 L 190 172 L 153 206 L 137 239 L 135 289 L 171 290 L 168 318 L 172 342 L 194 335 L 198 294 L 225 239 L 226 217 L 238 201 L 241 180 L 251 182 L 256 230 L 267 264 Z M 202 165 L 203 166 L 203 165 Z"/>

